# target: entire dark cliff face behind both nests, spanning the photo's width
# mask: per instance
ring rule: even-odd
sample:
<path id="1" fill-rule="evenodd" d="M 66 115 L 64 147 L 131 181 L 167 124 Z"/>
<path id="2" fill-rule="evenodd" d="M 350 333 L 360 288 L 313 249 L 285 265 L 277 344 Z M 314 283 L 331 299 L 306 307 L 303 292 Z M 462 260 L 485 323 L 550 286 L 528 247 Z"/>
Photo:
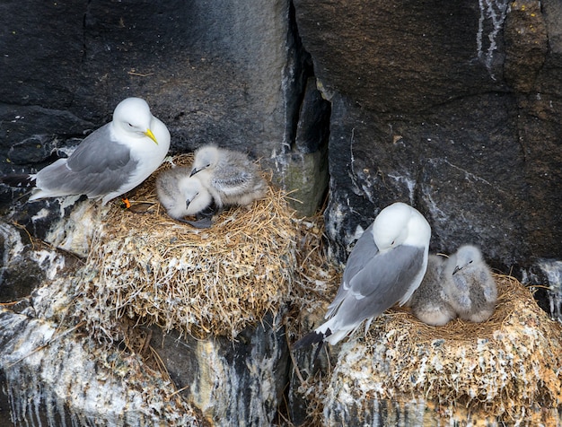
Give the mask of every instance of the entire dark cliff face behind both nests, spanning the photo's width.
<path id="1" fill-rule="evenodd" d="M 558 2 L 207 6 L 4 2 L 1 169 L 39 169 L 140 95 L 172 153 L 247 151 L 305 213 L 329 170 L 341 260 L 395 200 L 428 215 L 433 250 L 472 241 L 503 269 L 561 257 Z"/>

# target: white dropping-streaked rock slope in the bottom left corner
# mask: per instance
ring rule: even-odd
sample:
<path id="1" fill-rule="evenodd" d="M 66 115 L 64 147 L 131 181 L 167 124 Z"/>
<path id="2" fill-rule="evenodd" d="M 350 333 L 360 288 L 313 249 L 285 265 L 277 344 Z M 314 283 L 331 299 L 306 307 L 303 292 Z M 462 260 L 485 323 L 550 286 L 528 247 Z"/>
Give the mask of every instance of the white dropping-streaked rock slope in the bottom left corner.
<path id="1" fill-rule="evenodd" d="M 80 325 L 61 329 L 0 307 L 0 366 L 13 425 L 202 425 L 161 371 L 137 354 L 92 346 L 75 334 Z"/>

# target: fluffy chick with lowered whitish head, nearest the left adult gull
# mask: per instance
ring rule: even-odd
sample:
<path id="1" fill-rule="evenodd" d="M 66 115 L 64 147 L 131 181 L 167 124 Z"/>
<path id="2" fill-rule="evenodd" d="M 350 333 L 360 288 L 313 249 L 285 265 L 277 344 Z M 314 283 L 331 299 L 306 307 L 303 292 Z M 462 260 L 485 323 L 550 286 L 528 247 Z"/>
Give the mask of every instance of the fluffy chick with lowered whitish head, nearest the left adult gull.
<path id="1" fill-rule="evenodd" d="M 178 221 L 202 213 L 213 205 L 211 193 L 197 176 L 190 177 L 190 172 L 188 166 L 177 166 L 164 170 L 156 178 L 158 200 L 171 218 Z"/>

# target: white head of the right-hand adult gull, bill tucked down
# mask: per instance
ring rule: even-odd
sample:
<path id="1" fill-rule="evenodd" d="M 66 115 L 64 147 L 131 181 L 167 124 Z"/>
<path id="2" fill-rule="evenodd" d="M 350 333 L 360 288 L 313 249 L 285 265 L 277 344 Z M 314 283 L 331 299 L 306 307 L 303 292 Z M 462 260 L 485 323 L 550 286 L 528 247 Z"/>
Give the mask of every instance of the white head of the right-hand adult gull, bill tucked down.
<path id="1" fill-rule="evenodd" d="M 373 239 L 380 251 L 408 244 L 429 246 L 431 228 L 423 215 L 405 203 L 382 209 L 373 222 Z"/>

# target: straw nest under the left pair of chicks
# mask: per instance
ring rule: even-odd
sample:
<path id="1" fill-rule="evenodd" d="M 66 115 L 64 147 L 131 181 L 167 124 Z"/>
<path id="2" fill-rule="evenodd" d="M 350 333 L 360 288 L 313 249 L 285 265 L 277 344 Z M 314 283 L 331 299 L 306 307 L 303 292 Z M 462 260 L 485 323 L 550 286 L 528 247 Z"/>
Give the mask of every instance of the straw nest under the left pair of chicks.
<path id="1" fill-rule="evenodd" d="M 173 159 L 189 164 L 192 154 Z M 159 205 L 154 179 L 129 194 L 130 209 L 115 205 L 92 241 L 83 280 L 91 327 L 116 339 L 119 318 L 179 329 L 196 337 L 234 338 L 290 292 L 295 266 L 294 213 L 269 187 L 250 207 L 215 216 L 198 230 L 173 221 Z M 111 313 L 108 316 L 108 313 Z"/>

